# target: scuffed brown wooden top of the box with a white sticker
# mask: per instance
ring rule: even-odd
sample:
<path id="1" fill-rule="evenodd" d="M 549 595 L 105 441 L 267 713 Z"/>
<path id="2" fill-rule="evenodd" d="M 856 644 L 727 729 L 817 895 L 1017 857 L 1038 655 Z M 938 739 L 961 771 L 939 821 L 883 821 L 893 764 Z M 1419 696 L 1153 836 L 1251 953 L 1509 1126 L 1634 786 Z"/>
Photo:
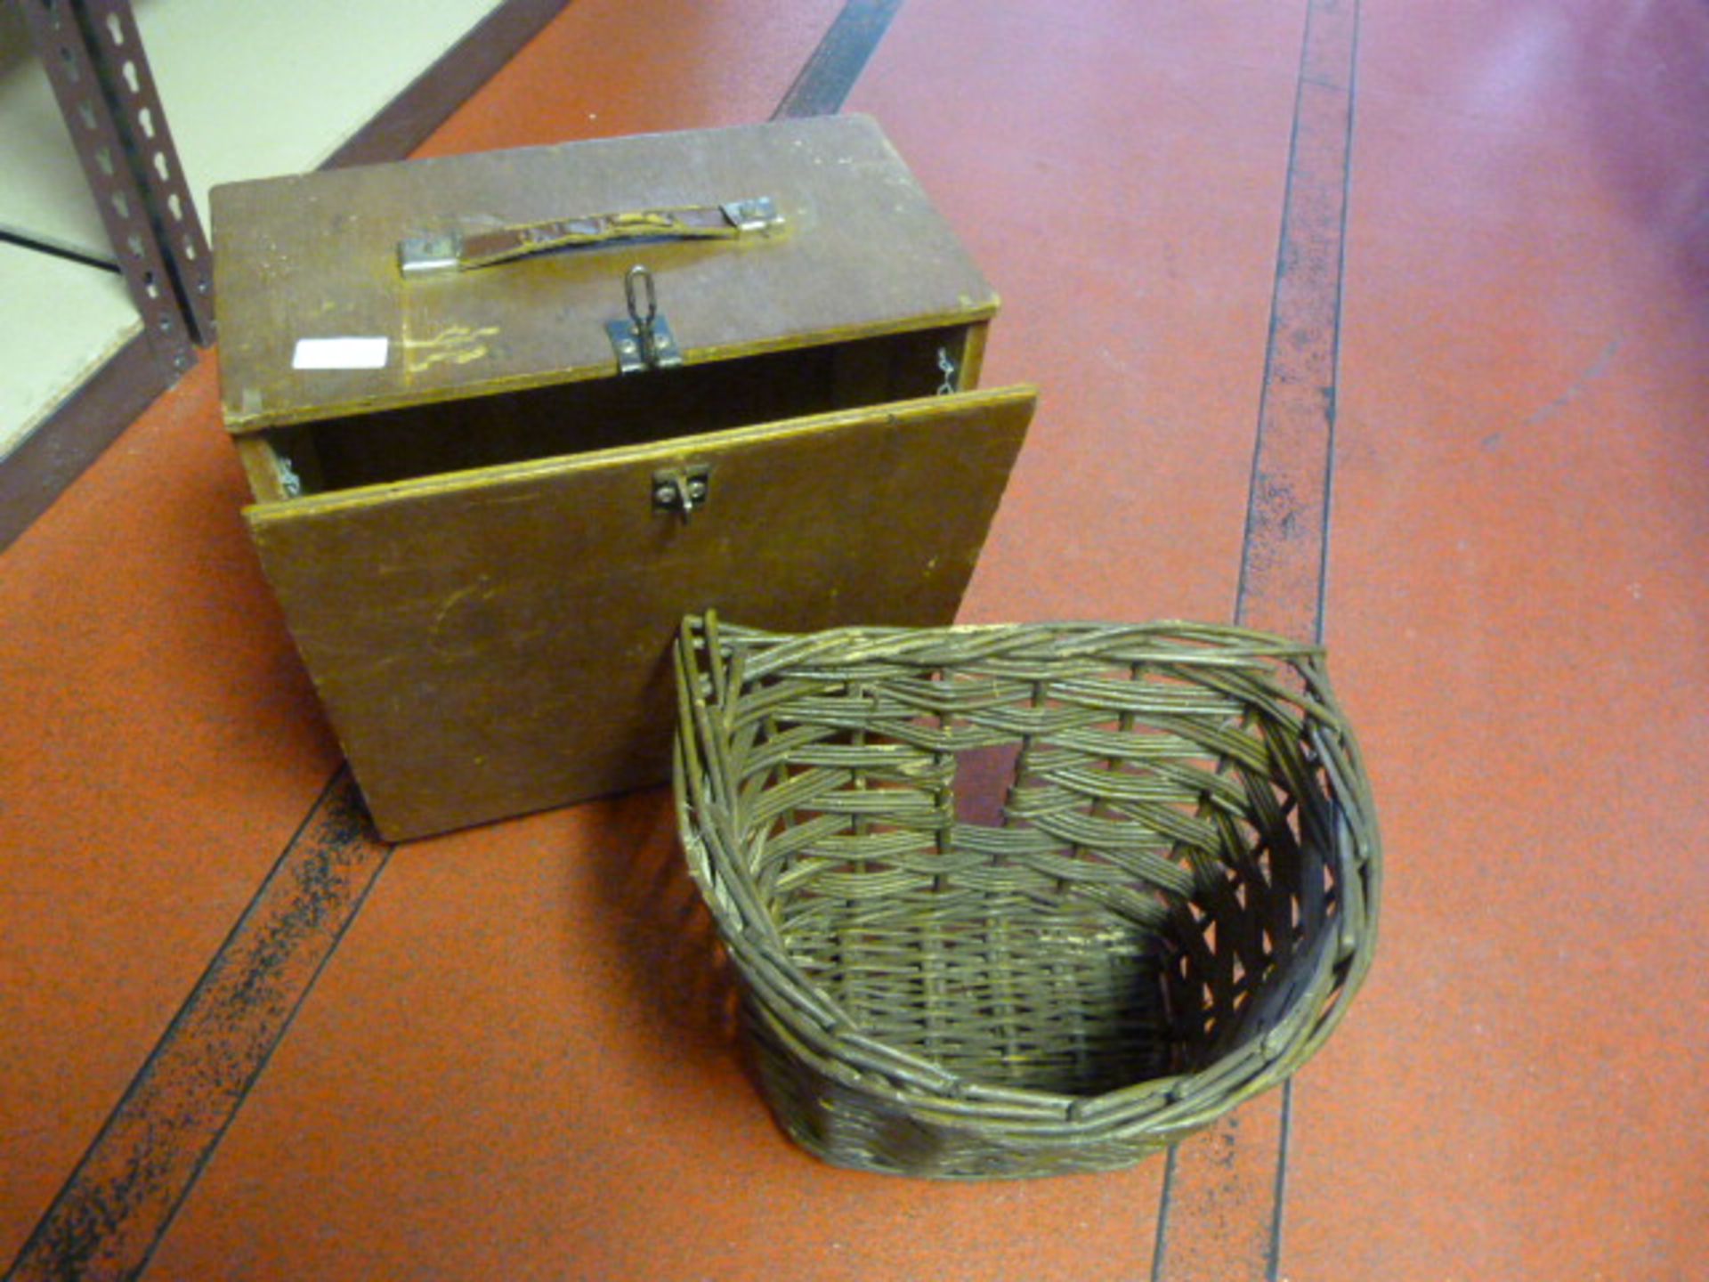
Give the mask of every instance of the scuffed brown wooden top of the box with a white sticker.
<path id="1" fill-rule="evenodd" d="M 432 275 L 398 263 L 408 238 L 759 197 L 774 202 L 779 231 L 590 244 Z M 615 376 L 605 323 L 627 316 L 636 263 L 651 270 L 687 364 L 996 311 L 865 116 L 231 183 L 214 190 L 212 224 L 232 432 Z M 299 347 L 328 338 L 367 342 Z M 373 368 L 299 368 L 328 362 Z"/>

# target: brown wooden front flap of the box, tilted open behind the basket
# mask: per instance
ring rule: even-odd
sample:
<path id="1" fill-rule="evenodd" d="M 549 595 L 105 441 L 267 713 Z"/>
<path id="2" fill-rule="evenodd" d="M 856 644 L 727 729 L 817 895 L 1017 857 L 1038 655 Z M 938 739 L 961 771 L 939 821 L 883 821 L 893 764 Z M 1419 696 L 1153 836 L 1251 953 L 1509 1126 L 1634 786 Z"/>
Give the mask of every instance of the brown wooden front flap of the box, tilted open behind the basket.
<path id="1" fill-rule="evenodd" d="M 381 832 L 665 778 L 684 614 L 954 619 L 1031 388 L 263 503 L 267 576 Z M 655 472 L 711 467 L 684 523 Z"/>

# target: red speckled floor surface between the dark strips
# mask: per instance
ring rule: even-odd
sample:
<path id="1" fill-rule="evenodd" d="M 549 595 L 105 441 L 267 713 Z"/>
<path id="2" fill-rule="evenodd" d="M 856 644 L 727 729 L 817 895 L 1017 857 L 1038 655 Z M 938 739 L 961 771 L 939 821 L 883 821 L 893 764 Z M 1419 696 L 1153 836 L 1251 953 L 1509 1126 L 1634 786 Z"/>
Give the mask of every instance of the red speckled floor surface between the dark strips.
<path id="1" fill-rule="evenodd" d="M 1297 1080 L 1280 1244 L 1254 1101 L 1183 1149 L 1159 1273 L 1695 1279 L 1709 10 L 1367 0 L 1309 173 L 1307 10 L 1354 2 L 901 5 L 848 108 L 1005 297 L 984 381 L 1044 393 L 964 615 L 1230 615 L 1290 174 L 1345 178 L 1324 636 L 1383 945 Z M 837 10 L 576 0 L 422 150 L 762 120 Z M 0 1261 L 337 767 L 243 497 L 205 359 L 0 554 Z M 1150 1275 L 1162 1159 L 791 1149 L 673 841 L 646 793 L 400 846 L 145 1275 Z"/>

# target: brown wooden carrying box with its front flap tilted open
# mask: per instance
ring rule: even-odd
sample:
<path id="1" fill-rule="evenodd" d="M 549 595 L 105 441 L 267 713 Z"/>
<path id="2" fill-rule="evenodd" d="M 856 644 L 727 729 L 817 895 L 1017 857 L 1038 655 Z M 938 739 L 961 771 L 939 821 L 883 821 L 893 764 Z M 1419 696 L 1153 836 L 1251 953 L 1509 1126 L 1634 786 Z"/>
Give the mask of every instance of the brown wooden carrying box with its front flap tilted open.
<path id="1" fill-rule="evenodd" d="M 685 612 L 954 617 L 1034 391 L 972 390 L 996 296 L 873 121 L 212 207 L 246 518 L 385 836 L 663 779 Z"/>

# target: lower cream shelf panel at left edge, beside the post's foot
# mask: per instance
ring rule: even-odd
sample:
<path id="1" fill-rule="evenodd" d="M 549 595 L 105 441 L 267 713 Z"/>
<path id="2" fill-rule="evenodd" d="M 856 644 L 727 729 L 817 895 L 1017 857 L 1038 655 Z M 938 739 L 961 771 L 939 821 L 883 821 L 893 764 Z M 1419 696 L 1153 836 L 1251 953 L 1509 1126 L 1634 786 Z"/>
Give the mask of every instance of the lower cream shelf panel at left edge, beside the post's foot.
<path id="1" fill-rule="evenodd" d="M 118 273 L 0 244 L 0 458 L 140 330 Z"/>

